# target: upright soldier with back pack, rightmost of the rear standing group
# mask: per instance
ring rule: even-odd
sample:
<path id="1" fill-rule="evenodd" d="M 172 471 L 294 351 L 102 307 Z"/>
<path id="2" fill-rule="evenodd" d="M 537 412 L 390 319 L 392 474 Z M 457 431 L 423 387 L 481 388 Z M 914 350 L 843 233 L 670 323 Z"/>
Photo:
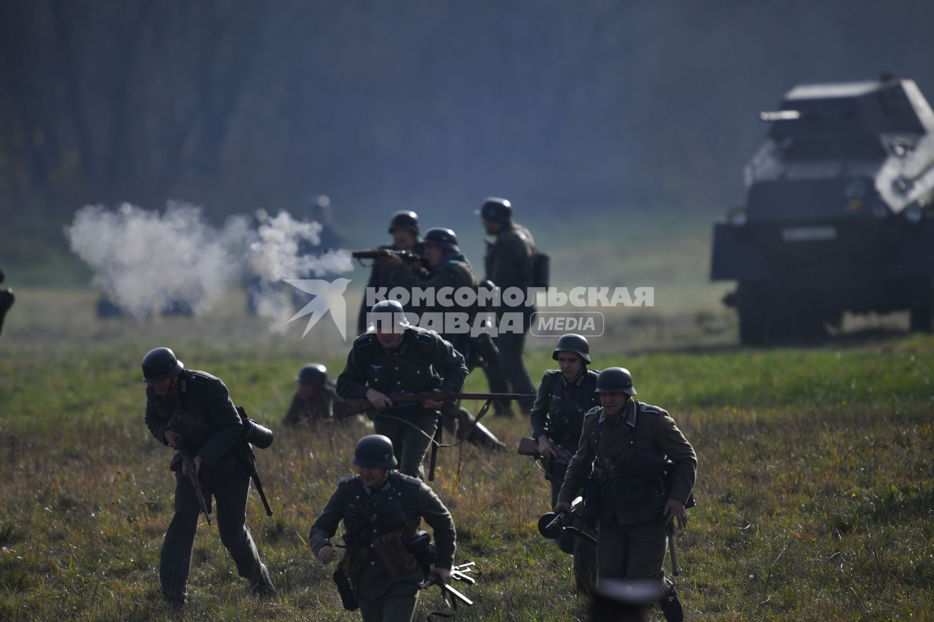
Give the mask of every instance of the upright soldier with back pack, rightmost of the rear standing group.
<path id="1" fill-rule="evenodd" d="M 535 278 L 535 261 L 538 251 L 529 229 L 513 222 L 513 207 L 508 200 L 490 197 L 485 200 L 479 214 L 483 219 L 483 228 L 488 235 L 494 236 L 493 242 L 487 242 L 487 256 L 484 264 L 487 279 L 495 283 L 504 292 L 510 287 L 518 287 L 523 293 L 532 286 Z M 525 349 L 525 334 L 529 330 L 534 306 L 506 307 L 502 312 L 522 313 L 522 332 L 500 333 L 496 347 L 500 350 L 502 370 L 512 389 L 512 393 L 531 394 L 529 370 L 526 369 L 522 352 Z M 489 375 L 489 372 L 488 372 Z M 521 408 L 531 408 L 531 401 L 520 404 Z"/>

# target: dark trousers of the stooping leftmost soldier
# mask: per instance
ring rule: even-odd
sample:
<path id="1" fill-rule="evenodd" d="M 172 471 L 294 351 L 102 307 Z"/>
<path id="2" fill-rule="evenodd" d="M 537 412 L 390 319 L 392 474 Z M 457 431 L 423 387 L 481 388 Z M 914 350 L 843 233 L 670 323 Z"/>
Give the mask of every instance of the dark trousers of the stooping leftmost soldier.
<path id="1" fill-rule="evenodd" d="M 257 585 L 271 586 L 269 572 L 260 561 L 253 538 L 246 525 L 249 477 L 232 473 L 203 491 L 210 506 L 213 497 L 220 542 L 230 552 L 237 573 Z M 175 516 L 165 532 L 163 552 L 159 562 L 159 582 L 168 601 L 183 603 L 188 595 L 188 575 L 191 570 L 191 547 L 198 530 L 201 505 L 186 477 L 176 482 Z"/>

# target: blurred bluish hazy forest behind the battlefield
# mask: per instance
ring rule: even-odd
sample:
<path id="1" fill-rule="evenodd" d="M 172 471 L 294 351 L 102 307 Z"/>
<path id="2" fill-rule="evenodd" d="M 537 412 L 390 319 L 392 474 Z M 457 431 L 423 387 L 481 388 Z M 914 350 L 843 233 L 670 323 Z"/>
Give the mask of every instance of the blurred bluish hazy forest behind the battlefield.
<path id="1" fill-rule="evenodd" d="M 910 0 L 7 0 L 0 265 L 87 283 L 75 211 L 170 198 L 219 222 L 327 194 L 355 247 L 398 209 L 478 239 L 490 194 L 546 239 L 625 214 L 708 235 L 795 84 L 934 97 L 932 23 Z"/>

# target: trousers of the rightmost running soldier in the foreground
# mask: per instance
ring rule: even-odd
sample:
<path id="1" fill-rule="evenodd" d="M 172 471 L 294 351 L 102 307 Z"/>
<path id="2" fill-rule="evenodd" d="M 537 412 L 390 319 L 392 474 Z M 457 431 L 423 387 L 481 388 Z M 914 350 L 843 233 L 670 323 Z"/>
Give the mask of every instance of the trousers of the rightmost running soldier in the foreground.
<path id="1" fill-rule="evenodd" d="M 666 523 L 651 520 L 619 526 L 601 521 L 597 536 L 597 563 L 601 579 L 665 581 L 662 564 L 667 550 Z"/>

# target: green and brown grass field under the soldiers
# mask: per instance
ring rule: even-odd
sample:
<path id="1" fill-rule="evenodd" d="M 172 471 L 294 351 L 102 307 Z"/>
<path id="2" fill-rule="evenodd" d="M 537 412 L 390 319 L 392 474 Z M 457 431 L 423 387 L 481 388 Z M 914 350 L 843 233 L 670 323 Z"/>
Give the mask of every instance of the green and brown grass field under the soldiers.
<path id="1" fill-rule="evenodd" d="M 21 296 L 0 339 L 0 619 L 359 619 L 341 610 L 332 568 L 305 544 L 366 433 L 344 425 L 280 434 L 258 452 L 276 514 L 266 518 L 251 494 L 248 525 L 280 596 L 249 598 L 203 525 L 191 604 L 163 610 L 156 568 L 173 477 L 170 451 L 143 422 L 138 367 L 149 348 L 172 345 L 278 432 L 298 366 L 320 359 L 339 371 L 342 344 L 270 335 L 234 311 L 99 322 L 90 296 Z M 627 339 L 599 345 L 594 365 L 628 366 L 640 396 L 669 409 L 699 454 L 699 505 L 677 538 L 689 618 L 934 619 L 934 339 L 863 334 L 747 350 L 728 327 L 714 344 L 679 349 L 672 330 L 684 326 L 653 326 L 671 348 L 629 339 L 646 330 L 636 323 Z M 551 363 L 542 350 L 528 357 L 533 376 Z M 510 448 L 529 434 L 524 420 L 486 422 Z M 434 487 L 454 513 L 459 560 L 483 572 L 465 587 L 477 603 L 460 617 L 586 619 L 570 558 L 535 529 L 547 486 L 529 459 L 446 449 Z M 442 608 L 425 596 L 419 619 Z"/>

